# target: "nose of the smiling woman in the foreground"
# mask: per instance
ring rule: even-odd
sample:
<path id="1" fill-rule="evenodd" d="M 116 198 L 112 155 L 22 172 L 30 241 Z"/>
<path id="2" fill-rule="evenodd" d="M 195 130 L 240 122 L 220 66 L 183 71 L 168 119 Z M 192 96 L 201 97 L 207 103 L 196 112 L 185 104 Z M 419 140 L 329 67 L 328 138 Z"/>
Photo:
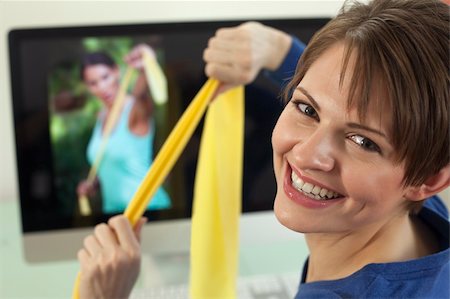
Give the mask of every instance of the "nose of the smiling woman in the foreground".
<path id="1" fill-rule="evenodd" d="M 292 152 L 296 167 L 303 170 L 329 172 L 336 164 L 336 145 L 332 134 L 325 130 L 316 129 L 312 135 L 299 140 Z"/>

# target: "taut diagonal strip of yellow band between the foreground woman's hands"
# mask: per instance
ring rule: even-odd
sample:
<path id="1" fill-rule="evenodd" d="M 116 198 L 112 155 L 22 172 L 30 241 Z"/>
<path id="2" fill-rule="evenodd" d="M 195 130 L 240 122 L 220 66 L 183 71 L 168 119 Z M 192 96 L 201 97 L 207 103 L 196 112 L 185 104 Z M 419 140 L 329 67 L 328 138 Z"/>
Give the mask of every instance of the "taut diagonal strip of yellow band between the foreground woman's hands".
<path id="1" fill-rule="evenodd" d="M 132 226 L 134 226 L 139 218 L 142 217 L 153 194 L 162 184 L 183 148 L 186 146 L 186 143 L 211 101 L 212 96 L 216 92 L 218 85 L 219 83 L 213 79 L 209 79 L 205 83 L 162 146 L 150 170 L 147 172 L 144 180 L 141 182 L 133 199 L 125 210 L 124 215 L 128 218 Z M 81 272 L 78 273 L 75 281 L 72 295 L 72 298 L 74 299 L 80 297 L 79 284 L 81 275 Z"/>

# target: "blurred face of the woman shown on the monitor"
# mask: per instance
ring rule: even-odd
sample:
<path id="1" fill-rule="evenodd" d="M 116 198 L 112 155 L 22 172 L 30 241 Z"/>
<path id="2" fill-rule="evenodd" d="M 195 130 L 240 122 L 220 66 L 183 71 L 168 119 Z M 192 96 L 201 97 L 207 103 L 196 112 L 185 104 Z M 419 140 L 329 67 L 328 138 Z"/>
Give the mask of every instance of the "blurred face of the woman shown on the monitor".
<path id="1" fill-rule="evenodd" d="M 89 91 L 110 107 L 119 90 L 119 70 L 105 64 L 94 64 L 84 69 L 84 82 Z"/>

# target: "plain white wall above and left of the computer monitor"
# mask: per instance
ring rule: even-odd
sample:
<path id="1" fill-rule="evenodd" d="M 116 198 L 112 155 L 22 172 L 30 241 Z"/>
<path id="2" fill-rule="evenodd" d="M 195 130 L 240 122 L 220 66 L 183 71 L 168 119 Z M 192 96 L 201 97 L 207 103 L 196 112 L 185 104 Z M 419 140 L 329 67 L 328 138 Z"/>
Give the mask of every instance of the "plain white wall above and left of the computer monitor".
<path id="1" fill-rule="evenodd" d="M 332 16 L 335 1 L 0 1 L 0 200 L 18 197 L 7 35 L 13 28 Z"/>

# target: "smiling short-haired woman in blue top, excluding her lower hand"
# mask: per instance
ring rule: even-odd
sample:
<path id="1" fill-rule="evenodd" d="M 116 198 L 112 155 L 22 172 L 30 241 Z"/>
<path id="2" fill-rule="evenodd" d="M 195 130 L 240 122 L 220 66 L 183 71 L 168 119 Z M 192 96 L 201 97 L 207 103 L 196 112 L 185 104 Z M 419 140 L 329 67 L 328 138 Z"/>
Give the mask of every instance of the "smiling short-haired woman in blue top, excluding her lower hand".
<path id="1" fill-rule="evenodd" d="M 448 24 L 437 0 L 374 0 L 306 49 L 253 22 L 210 39 L 223 89 L 286 84 L 301 55 L 272 134 L 275 215 L 310 250 L 296 298 L 449 298 Z"/>

